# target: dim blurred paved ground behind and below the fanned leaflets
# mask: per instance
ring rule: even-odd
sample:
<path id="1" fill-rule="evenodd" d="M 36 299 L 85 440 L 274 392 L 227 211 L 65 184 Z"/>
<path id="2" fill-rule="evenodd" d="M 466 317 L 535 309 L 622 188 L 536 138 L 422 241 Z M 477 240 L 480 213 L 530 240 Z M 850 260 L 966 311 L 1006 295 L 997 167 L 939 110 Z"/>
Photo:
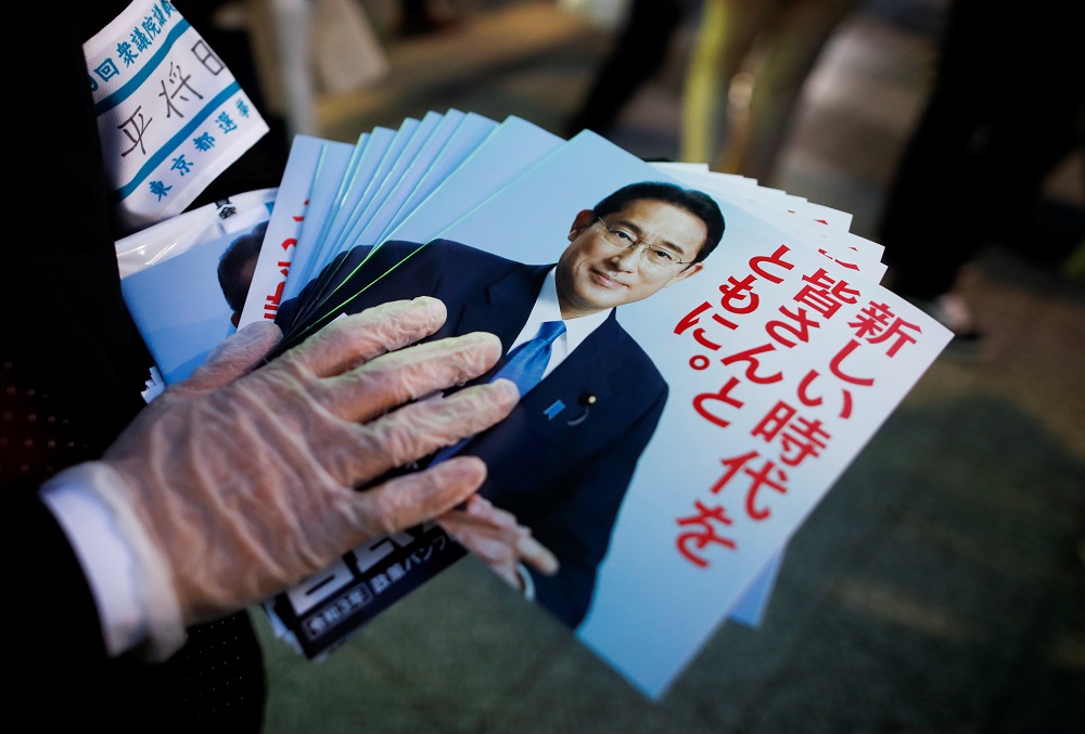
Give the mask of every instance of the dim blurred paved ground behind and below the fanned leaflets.
<path id="1" fill-rule="evenodd" d="M 321 134 L 448 107 L 559 132 L 607 37 L 547 0 L 475 7 L 388 40 L 388 79 L 321 99 Z M 877 0 L 841 27 L 774 185 L 872 236 L 942 7 Z M 615 142 L 677 155 L 681 53 Z M 940 358 L 794 538 L 764 624 L 723 627 L 661 701 L 468 559 L 322 664 L 256 615 L 267 731 L 1085 731 L 1085 285 L 992 247 L 962 287 L 982 352 Z"/>

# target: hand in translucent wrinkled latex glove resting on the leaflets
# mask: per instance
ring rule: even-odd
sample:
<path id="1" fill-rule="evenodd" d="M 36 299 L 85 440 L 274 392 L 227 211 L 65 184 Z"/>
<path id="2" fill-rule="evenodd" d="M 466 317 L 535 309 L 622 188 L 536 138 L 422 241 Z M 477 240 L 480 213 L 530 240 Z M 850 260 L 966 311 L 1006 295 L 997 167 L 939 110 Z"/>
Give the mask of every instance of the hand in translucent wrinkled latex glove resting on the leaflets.
<path id="1" fill-rule="evenodd" d="M 332 322 L 256 371 L 281 333 L 252 324 L 92 462 L 105 479 L 94 482 L 99 493 L 137 549 L 161 643 L 151 657 L 179 646 L 184 626 L 265 600 L 477 489 L 485 465 L 474 458 L 353 489 L 489 427 L 515 404 L 508 381 L 409 402 L 500 357 L 497 337 L 484 333 L 401 349 L 444 320 L 433 298 L 385 304 Z"/>

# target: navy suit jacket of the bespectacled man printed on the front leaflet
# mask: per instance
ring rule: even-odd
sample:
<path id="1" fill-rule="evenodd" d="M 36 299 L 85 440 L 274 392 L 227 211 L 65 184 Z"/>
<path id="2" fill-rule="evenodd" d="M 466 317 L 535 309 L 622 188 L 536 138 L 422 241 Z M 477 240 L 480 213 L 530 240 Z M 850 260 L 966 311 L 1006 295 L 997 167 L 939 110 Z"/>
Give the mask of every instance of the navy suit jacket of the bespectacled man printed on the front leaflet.
<path id="1" fill-rule="evenodd" d="M 369 249 L 352 250 L 329 270 L 350 273 Z M 486 331 L 499 336 L 508 352 L 552 267 L 523 265 L 447 240 L 421 249 L 416 243 L 388 242 L 346 278 L 330 302 L 342 304 L 411 253 L 331 316 L 434 296 L 444 301 L 448 318 L 431 339 Z M 307 296 L 306 289 L 283 304 L 279 323 L 290 323 Z M 589 396 L 595 401 L 587 407 Z M 508 418 L 461 451 L 486 461 L 483 497 L 513 513 L 558 556 L 557 576 L 533 574 L 536 600 L 570 627 L 587 613 L 615 516 L 666 397 L 663 376 L 612 312 Z"/>

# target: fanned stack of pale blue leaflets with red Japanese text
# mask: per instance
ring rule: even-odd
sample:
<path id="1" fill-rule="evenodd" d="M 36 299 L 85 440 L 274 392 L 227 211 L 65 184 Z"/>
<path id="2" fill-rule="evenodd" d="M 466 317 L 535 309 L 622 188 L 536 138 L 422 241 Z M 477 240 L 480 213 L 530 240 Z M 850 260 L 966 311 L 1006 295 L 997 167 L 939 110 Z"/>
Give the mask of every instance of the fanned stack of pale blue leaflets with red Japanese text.
<path id="1" fill-rule="evenodd" d="M 718 211 L 707 257 L 607 207 L 646 186 L 698 193 Z M 522 593 L 655 698 L 726 620 L 758 623 L 788 541 L 948 343 L 879 285 L 881 247 L 850 223 L 590 132 L 562 140 L 515 117 L 430 113 L 355 144 L 295 138 L 238 323 L 276 320 L 286 348 L 343 313 L 435 295 L 449 309 L 438 335 L 483 329 L 510 347 L 536 309 L 592 276 L 574 267 L 585 253 L 654 258 L 637 260 L 650 262 L 640 275 L 662 280 L 640 282 L 630 266 L 611 274 L 622 296 L 608 308 L 564 318 L 549 372 L 462 451 L 487 460 L 483 495 L 560 558 L 552 577 L 518 568 Z M 139 295 L 159 266 L 126 276 L 133 312 L 171 281 L 206 276 L 214 258 L 191 259 L 195 269 L 178 259 Z M 153 320 L 140 323 L 149 338 Z M 210 342 L 221 326 L 206 329 Z M 265 609 L 320 658 L 469 552 L 441 524 L 409 528 Z"/>

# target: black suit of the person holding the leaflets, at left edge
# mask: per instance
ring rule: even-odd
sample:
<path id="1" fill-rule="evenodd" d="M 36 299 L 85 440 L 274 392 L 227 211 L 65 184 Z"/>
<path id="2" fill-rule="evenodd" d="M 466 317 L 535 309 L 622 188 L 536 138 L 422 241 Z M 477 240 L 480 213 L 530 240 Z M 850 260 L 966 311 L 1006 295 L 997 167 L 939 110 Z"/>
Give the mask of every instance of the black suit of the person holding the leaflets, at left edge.
<path id="1" fill-rule="evenodd" d="M 12 80 L 12 99 L 35 123 L 24 130 L 31 160 L 10 177 L 0 287 L 8 714 L 54 731 L 255 732 L 266 694 L 247 616 L 193 628 L 165 664 L 107 657 L 79 562 L 37 497 L 48 476 L 101 456 L 143 407 L 149 377 L 150 356 L 122 299 L 81 49 L 127 4 L 61 0 L 36 16 L 49 26 L 48 41 L 34 33 L 14 38 L 13 53 L 28 63 Z M 244 171 L 237 168 L 226 188 L 208 188 L 193 206 L 278 182 Z"/>

